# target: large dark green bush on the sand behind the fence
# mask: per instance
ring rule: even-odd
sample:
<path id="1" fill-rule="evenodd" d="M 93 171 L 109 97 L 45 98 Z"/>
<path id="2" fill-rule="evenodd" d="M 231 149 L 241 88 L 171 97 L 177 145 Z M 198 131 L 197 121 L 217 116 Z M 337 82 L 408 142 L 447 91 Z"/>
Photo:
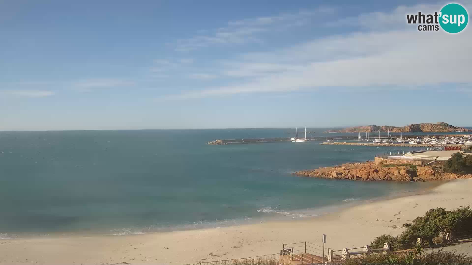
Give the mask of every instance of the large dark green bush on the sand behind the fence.
<path id="1" fill-rule="evenodd" d="M 472 209 L 469 206 L 459 207 L 452 211 L 446 211 L 445 208 L 433 208 L 425 215 L 416 217 L 411 224 L 403 224 L 406 228 L 399 236 L 383 234 L 371 245 L 381 245 L 383 242 L 389 242 L 396 249 L 419 248 L 416 244 L 418 238 L 422 238 L 433 246 L 433 238 L 446 233 L 461 233 L 469 231 L 472 228 Z"/>

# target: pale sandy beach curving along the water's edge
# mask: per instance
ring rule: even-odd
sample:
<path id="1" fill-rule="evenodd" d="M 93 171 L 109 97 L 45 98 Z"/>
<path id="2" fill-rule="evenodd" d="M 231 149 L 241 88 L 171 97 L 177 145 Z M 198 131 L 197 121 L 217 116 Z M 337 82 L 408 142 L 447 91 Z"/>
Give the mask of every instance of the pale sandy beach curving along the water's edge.
<path id="1" fill-rule="evenodd" d="M 223 228 L 126 236 L 41 237 L 0 240 L 1 264 L 187 264 L 278 253 L 283 243 L 326 248 L 369 244 L 382 233 L 397 235 L 403 223 L 431 207 L 472 204 L 472 179 L 454 180 L 426 194 L 363 203 L 319 217 Z M 377 221 L 377 219 L 379 219 Z"/>

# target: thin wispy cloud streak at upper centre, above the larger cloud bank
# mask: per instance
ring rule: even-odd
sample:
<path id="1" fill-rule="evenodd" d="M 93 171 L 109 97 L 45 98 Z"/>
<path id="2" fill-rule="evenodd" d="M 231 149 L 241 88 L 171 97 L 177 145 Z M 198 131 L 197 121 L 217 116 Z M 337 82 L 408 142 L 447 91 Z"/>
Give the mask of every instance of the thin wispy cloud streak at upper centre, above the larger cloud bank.
<path id="1" fill-rule="evenodd" d="M 312 17 L 332 13 L 335 10 L 335 8 L 318 8 L 277 16 L 229 21 L 225 27 L 211 30 L 208 33 L 199 31 L 197 35 L 179 40 L 172 45 L 177 51 L 190 51 L 211 45 L 261 43 L 263 41 L 257 37 L 260 33 L 278 32 L 290 27 L 307 25 Z"/>

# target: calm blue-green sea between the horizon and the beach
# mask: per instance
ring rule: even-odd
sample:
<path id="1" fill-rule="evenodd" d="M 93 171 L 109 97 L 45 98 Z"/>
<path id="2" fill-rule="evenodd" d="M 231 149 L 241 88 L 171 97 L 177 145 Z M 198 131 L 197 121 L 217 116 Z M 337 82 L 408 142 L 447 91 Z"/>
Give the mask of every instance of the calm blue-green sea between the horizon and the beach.
<path id="1" fill-rule="evenodd" d="M 308 128 L 312 136 L 333 135 L 327 129 Z M 292 174 L 420 147 L 206 144 L 294 133 L 293 128 L 0 132 L 0 238 L 119 236 L 305 218 L 436 185 Z"/>

